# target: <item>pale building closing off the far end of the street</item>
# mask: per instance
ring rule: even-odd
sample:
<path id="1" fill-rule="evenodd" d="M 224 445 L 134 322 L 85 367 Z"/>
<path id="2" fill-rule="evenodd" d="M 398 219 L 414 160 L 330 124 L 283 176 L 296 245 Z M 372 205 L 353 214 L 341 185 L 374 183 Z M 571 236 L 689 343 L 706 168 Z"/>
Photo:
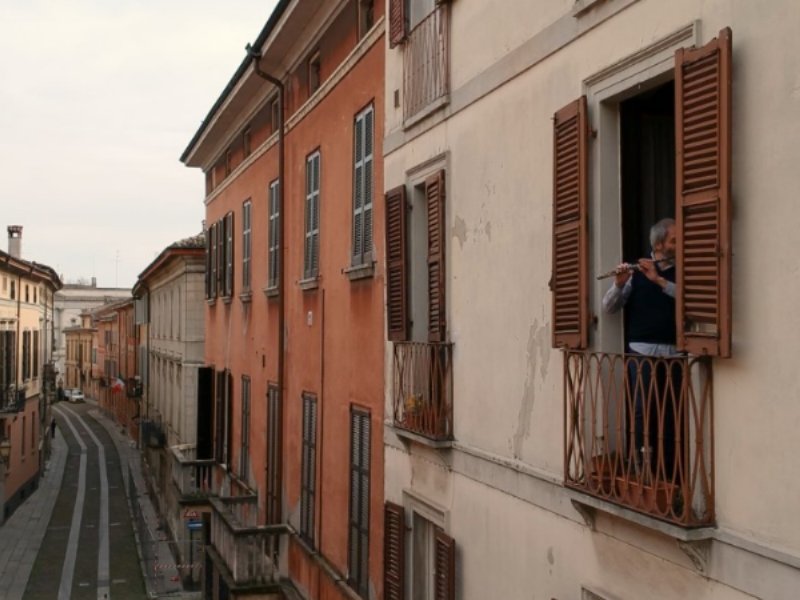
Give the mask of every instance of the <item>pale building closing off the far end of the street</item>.
<path id="1" fill-rule="evenodd" d="M 92 277 L 89 285 L 67 283 L 56 293 L 55 300 L 55 349 L 54 361 L 62 383 L 66 385 L 64 374 L 66 372 L 65 357 L 67 353 L 66 337 L 64 330 L 68 327 L 81 325 L 81 313 L 96 306 L 102 306 L 121 298 L 128 298 L 130 289 L 124 288 L 99 288 L 97 280 Z"/>

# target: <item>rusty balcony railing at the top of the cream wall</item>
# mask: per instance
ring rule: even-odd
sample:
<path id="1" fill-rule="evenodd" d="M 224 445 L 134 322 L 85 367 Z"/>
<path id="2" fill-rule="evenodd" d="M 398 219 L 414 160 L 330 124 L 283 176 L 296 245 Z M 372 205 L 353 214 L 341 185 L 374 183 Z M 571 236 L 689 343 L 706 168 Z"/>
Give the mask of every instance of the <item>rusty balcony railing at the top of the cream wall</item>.
<path id="1" fill-rule="evenodd" d="M 435 108 L 450 91 L 448 6 L 440 4 L 412 29 L 403 49 L 403 119 Z"/>

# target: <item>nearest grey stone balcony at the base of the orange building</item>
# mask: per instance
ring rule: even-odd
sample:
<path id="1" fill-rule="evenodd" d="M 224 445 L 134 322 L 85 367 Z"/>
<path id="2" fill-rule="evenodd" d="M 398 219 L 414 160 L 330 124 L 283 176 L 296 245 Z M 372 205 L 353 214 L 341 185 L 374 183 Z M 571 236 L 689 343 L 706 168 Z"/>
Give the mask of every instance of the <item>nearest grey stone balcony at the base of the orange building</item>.
<path id="1" fill-rule="evenodd" d="M 283 526 L 256 525 L 255 494 L 211 498 L 211 543 L 234 587 L 275 584 L 278 572 L 270 559 Z"/>

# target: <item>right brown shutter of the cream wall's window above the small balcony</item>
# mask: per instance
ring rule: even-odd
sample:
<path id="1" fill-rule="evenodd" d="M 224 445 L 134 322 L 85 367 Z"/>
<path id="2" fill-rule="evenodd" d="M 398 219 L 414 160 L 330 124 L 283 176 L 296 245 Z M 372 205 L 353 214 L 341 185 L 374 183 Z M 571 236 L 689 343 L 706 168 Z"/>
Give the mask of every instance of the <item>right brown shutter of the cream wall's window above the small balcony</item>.
<path id="1" fill-rule="evenodd" d="M 444 171 L 425 181 L 428 202 L 428 341 L 443 342 L 446 337 L 445 311 L 445 186 Z"/>

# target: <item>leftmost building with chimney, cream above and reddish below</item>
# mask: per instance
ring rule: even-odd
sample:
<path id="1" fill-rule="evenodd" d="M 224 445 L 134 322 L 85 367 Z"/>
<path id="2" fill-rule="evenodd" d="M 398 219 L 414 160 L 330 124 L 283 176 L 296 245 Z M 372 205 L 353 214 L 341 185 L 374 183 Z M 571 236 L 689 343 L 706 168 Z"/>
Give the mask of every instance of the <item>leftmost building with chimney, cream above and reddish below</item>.
<path id="1" fill-rule="evenodd" d="M 9 227 L 8 252 L 0 251 L 0 523 L 39 482 L 60 288 L 53 269 L 22 258 L 22 227 Z"/>

